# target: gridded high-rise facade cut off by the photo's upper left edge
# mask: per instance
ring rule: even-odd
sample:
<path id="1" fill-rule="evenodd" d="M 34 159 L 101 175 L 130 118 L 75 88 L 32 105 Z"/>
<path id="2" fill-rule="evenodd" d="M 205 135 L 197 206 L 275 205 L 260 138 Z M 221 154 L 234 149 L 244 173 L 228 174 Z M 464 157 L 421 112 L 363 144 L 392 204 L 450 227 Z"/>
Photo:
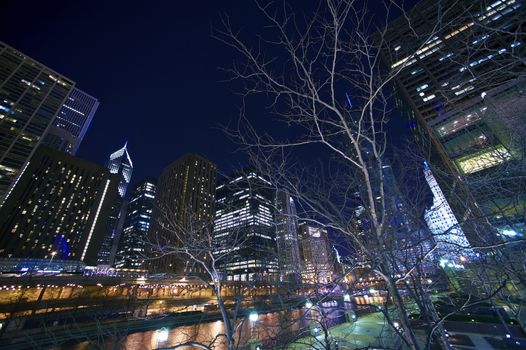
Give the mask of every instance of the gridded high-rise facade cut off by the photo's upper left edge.
<path id="1" fill-rule="evenodd" d="M 74 85 L 0 42 L 0 205 Z"/>

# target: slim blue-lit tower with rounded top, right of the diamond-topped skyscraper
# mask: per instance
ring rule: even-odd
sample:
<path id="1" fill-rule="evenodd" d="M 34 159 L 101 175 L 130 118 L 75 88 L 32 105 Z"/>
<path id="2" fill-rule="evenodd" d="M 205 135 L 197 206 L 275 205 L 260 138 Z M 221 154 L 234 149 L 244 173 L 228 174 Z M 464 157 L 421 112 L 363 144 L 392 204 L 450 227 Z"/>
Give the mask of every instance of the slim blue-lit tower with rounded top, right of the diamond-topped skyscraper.
<path id="1" fill-rule="evenodd" d="M 144 267 L 146 239 L 155 206 L 156 183 L 157 181 L 147 178 L 135 186 L 130 196 L 117 250 L 116 267 Z"/>

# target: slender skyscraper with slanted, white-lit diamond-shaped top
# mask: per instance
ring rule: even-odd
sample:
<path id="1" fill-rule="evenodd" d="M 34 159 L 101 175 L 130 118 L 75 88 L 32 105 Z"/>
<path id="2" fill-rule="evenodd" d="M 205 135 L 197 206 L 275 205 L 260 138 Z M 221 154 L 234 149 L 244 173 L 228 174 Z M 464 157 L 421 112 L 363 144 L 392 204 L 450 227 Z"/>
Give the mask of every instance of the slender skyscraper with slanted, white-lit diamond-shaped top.
<path id="1" fill-rule="evenodd" d="M 119 188 L 113 209 L 109 217 L 108 233 L 104 237 L 102 247 L 99 252 L 97 263 L 99 265 L 112 265 L 117 253 L 120 234 L 126 215 L 125 196 L 128 185 L 131 181 L 133 163 L 128 153 L 128 143 L 117 151 L 113 152 L 106 163 L 106 167 L 112 174 L 119 175 Z"/>

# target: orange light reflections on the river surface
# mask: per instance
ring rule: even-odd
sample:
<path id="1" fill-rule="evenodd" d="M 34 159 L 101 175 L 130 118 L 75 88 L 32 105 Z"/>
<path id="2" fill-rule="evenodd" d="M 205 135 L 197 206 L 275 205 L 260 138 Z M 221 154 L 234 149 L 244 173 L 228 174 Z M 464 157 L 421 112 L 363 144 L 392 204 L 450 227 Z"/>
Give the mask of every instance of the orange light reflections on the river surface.
<path id="1" fill-rule="evenodd" d="M 329 314 L 334 311 L 334 304 L 326 304 L 324 309 Z M 335 313 L 333 313 L 335 315 Z M 338 313 L 339 314 L 339 313 Z M 246 344 L 250 338 L 257 338 L 264 342 L 279 343 L 287 336 L 294 336 L 305 330 L 307 321 L 305 320 L 306 310 L 295 309 L 282 312 L 260 314 L 256 323 L 242 320 L 235 332 L 237 344 Z M 309 313 L 310 316 L 315 316 Z M 334 317 L 334 315 L 332 317 Z M 339 323 L 339 318 L 334 317 L 334 324 Z M 105 339 L 102 346 L 95 346 L 93 343 L 82 342 L 73 346 L 63 346 L 62 350 L 92 350 L 92 349 L 126 349 L 126 350 L 154 350 L 160 347 L 170 347 L 185 342 L 200 342 L 206 345 L 214 342 L 214 349 L 227 349 L 225 337 L 217 337 L 224 334 L 222 321 L 203 322 L 188 326 L 179 326 L 168 331 L 168 340 L 159 343 L 159 330 L 137 332 L 125 336 L 124 339 Z M 217 338 L 216 338 L 217 337 Z M 215 340 L 214 340 L 215 339 Z M 187 346 L 180 349 L 196 349 Z"/>

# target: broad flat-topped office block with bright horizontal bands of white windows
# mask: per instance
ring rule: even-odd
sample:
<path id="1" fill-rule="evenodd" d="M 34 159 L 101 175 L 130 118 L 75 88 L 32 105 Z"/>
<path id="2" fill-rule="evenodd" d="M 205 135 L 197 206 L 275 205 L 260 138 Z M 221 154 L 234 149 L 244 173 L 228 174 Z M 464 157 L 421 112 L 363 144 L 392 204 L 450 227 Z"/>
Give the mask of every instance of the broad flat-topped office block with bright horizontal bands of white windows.
<path id="1" fill-rule="evenodd" d="M 274 201 L 271 183 L 253 171 L 237 173 L 217 187 L 214 255 L 224 279 L 279 278 Z"/>

